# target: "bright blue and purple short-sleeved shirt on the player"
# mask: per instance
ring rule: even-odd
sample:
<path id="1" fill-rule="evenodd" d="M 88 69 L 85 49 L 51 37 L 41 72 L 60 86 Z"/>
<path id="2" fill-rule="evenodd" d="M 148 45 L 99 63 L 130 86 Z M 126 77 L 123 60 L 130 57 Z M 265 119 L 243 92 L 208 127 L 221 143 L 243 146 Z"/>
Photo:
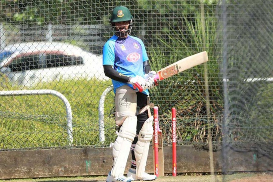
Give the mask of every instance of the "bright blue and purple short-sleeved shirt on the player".
<path id="1" fill-rule="evenodd" d="M 143 42 L 133 36 L 127 38 L 119 38 L 113 35 L 103 47 L 103 65 L 112 65 L 113 68 L 126 76 L 144 76 L 143 62 L 148 60 L 147 52 Z M 112 79 L 114 86 L 114 93 L 116 89 L 128 85 L 133 89 L 129 83 L 123 83 Z M 142 93 L 149 95 L 148 90 Z"/>

